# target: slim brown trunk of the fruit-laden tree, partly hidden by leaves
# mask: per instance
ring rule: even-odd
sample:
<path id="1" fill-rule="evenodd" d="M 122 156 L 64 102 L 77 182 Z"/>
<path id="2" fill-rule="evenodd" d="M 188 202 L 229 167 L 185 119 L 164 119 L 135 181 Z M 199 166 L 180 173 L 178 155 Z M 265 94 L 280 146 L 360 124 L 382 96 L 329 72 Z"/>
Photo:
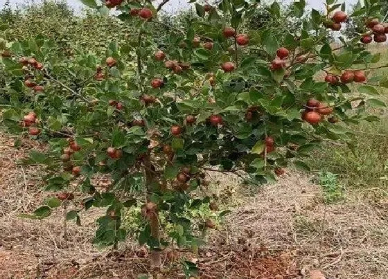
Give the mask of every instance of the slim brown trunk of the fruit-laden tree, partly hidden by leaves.
<path id="1" fill-rule="evenodd" d="M 157 182 L 157 177 L 155 177 L 155 172 L 153 172 L 153 166 L 150 161 L 150 154 L 147 154 L 144 157 L 144 173 L 145 173 L 145 186 L 147 187 L 147 202 L 150 201 L 150 193 L 154 190 L 152 184 Z M 159 213 L 158 210 L 155 210 L 155 214 L 150 216 L 150 227 L 151 227 L 151 236 L 160 241 L 159 235 Z M 153 249 L 151 247 L 151 267 L 160 268 L 161 267 L 161 255 L 160 251 Z"/>

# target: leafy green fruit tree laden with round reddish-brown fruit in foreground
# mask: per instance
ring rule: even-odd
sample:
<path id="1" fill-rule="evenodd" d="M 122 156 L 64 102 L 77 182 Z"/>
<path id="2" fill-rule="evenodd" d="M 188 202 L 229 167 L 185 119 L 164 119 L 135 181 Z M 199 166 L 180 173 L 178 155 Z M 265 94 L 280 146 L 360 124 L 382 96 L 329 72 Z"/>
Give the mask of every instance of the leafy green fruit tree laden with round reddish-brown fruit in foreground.
<path id="1" fill-rule="evenodd" d="M 367 49 L 387 39 L 378 0 L 365 0 L 353 15 L 334 0 L 326 0 L 326 12 L 308 14 L 296 1 L 284 15 L 275 1 L 263 8 L 270 23 L 258 30 L 245 24 L 261 8 L 256 1 L 197 1 L 197 17 L 179 28 L 158 19 L 168 0 L 82 2 L 105 15 L 115 10 L 131 30 L 127 43 L 110 42 L 105 56 L 77 49 L 61 57 L 50 37 L 1 39 L 3 124 L 48 142 L 25 162 L 44 166 L 52 192 L 29 217 L 71 204 L 67 217 L 80 224 L 81 210 L 104 207 L 95 242 L 116 246 L 126 236 L 124 209 L 139 207 L 136 236 L 153 266 L 172 240 L 196 249 L 195 229 L 215 226 L 191 215 L 203 205 L 218 210 L 202 195 L 208 172 L 265 183 L 290 164 L 308 170 L 301 159 L 315 147 L 342 141 L 352 149 L 347 126 L 378 120 L 366 109 L 385 107 L 378 96 L 388 80 L 371 71 L 385 65 L 373 66 L 380 55 Z M 285 17 L 297 27 L 287 28 Z M 364 30 L 339 37 L 349 17 L 362 19 Z M 161 27 L 168 33 L 157 34 L 164 42 L 157 44 Z M 330 44 L 333 32 L 340 46 Z M 96 188 L 99 174 L 112 185 Z"/>

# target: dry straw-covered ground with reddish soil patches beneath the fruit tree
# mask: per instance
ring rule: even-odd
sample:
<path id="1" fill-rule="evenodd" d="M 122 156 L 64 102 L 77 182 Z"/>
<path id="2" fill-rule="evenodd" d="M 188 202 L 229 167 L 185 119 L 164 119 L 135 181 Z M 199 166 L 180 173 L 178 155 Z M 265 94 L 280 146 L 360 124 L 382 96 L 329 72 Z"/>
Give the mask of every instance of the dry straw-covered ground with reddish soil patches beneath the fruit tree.
<path id="1" fill-rule="evenodd" d="M 36 141 L 24 139 L 20 150 L 14 141 L 0 135 L 0 278 L 137 278 L 139 273 L 184 278 L 179 264 L 168 261 L 152 271 L 147 256 L 130 243 L 114 253 L 93 246 L 100 210 L 82 214 L 82 226 L 68 222 L 67 242 L 60 210 L 42 221 L 19 217 L 48 194 L 36 167 L 16 164 Z M 213 179 L 227 188 L 239 185 L 221 174 Z M 236 194 L 237 206 L 223 228 L 209 235 L 206 247 L 197 255 L 179 255 L 197 262 L 200 278 L 313 278 L 314 269 L 326 278 L 388 278 L 387 192 L 348 189 L 343 203 L 328 206 L 321 195 L 319 186 L 296 172 L 255 197 Z"/>

